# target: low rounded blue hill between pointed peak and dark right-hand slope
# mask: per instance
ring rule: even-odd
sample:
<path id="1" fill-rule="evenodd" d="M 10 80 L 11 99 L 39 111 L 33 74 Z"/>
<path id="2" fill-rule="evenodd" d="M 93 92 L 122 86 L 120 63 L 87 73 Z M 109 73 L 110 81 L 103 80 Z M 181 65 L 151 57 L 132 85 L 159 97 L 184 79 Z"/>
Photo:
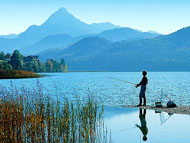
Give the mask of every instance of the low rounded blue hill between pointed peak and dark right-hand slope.
<path id="1" fill-rule="evenodd" d="M 111 30 L 105 30 L 101 32 L 98 36 L 105 38 L 107 40 L 116 42 L 122 40 L 140 40 L 158 37 L 161 34 L 152 33 L 152 32 L 141 32 L 132 28 L 115 28 Z"/>

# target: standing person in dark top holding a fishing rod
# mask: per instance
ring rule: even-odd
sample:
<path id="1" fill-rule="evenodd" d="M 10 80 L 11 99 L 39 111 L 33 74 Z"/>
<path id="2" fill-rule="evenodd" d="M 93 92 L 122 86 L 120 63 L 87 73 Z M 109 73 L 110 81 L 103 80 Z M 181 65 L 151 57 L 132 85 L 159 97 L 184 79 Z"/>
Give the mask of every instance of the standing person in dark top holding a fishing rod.
<path id="1" fill-rule="evenodd" d="M 148 84 L 148 79 L 146 77 L 147 72 L 143 71 L 142 75 L 143 75 L 143 78 L 142 78 L 141 82 L 139 84 L 135 85 L 136 88 L 139 87 L 139 86 L 141 86 L 141 90 L 140 90 L 140 93 L 139 93 L 139 105 L 137 105 L 137 106 L 142 106 L 142 99 L 143 98 L 144 98 L 144 104 L 143 104 L 143 106 L 146 106 L 146 95 L 145 95 L 145 92 L 146 92 L 146 85 Z"/>

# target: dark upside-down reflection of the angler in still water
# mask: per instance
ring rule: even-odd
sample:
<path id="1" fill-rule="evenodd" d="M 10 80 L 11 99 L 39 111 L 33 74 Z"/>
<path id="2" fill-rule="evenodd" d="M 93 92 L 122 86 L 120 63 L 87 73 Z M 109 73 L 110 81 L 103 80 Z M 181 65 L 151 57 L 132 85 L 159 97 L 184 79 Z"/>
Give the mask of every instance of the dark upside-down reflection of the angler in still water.
<path id="1" fill-rule="evenodd" d="M 144 112 L 143 112 L 144 110 Z M 139 109 L 139 119 L 141 121 L 141 126 L 136 124 L 136 126 L 141 130 L 143 134 L 143 141 L 147 140 L 148 128 L 146 125 L 146 109 Z"/>

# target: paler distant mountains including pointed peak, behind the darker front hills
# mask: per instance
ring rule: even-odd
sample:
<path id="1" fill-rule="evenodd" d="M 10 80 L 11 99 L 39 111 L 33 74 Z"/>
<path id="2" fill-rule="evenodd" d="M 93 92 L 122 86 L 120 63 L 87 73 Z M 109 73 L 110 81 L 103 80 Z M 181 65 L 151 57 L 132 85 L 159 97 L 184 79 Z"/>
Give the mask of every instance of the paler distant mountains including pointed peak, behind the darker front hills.
<path id="1" fill-rule="evenodd" d="M 93 36 L 115 42 L 153 38 L 159 34 L 122 28 L 109 22 L 86 24 L 75 18 L 65 8 L 60 8 L 42 25 L 32 25 L 18 35 L 0 36 L 0 48 L 5 52 L 18 49 L 23 54 L 30 55 L 52 48 L 67 48 L 82 38 Z"/>

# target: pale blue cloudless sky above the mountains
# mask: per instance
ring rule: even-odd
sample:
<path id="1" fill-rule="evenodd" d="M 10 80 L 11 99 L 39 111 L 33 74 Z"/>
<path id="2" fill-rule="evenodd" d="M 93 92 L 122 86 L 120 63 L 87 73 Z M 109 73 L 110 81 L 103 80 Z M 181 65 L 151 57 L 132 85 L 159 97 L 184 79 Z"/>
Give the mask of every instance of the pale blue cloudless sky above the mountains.
<path id="1" fill-rule="evenodd" d="M 163 34 L 190 25 L 190 0 L 0 0 L 0 35 L 40 25 L 60 7 L 86 23 L 108 21 Z"/>

